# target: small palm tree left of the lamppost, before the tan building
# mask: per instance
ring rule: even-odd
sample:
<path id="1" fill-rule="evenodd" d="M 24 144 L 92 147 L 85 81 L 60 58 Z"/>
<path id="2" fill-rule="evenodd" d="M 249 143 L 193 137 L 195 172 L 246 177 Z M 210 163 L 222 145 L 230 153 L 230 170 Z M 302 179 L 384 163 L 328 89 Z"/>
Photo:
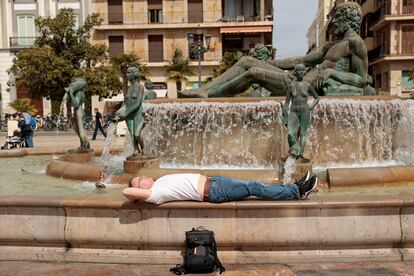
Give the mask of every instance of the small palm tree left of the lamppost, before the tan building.
<path id="1" fill-rule="evenodd" d="M 175 81 L 177 90 L 181 90 L 181 82 L 187 80 L 187 76 L 194 76 L 189 64 L 190 61 L 183 57 L 183 52 L 180 49 L 175 49 L 172 59 L 168 60 L 168 65 L 165 66 L 164 75 L 168 80 Z"/>

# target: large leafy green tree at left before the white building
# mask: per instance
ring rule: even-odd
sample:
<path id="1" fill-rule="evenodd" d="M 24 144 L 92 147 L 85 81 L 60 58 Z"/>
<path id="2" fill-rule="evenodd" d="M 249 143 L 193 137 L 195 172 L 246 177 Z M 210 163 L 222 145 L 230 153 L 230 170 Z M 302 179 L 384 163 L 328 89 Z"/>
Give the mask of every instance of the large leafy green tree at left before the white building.
<path id="1" fill-rule="evenodd" d="M 108 61 L 106 46 L 89 42 L 93 28 L 101 21 L 98 14 L 92 14 L 75 29 L 71 9 L 62 9 L 55 18 L 37 18 L 39 37 L 32 48 L 16 54 L 8 71 L 15 77 L 10 85 L 27 87 L 31 98 L 51 99 L 55 114 L 59 112 L 56 108 L 59 104 L 53 102 L 62 101 L 64 88 L 77 76 L 92 80 L 96 73 L 101 78 L 88 82 L 87 95 L 107 97 L 119 93 L 121 82 L 116 81 L 111 65 L 103 65 Z"/>

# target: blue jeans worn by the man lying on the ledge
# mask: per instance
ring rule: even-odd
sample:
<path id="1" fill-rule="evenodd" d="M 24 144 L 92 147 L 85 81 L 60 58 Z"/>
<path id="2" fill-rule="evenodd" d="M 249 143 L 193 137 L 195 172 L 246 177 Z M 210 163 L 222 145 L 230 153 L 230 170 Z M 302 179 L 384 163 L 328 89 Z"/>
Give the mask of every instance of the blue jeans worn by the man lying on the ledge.
<path id="1" fill-rule="evenodd" d="M 255 180 L 242 180 L 223 176 L 210 178 L 209 202 L 220 203 L 255 196 L 262 199 L 299 199 L 295 184 L 268 185 Z"/>

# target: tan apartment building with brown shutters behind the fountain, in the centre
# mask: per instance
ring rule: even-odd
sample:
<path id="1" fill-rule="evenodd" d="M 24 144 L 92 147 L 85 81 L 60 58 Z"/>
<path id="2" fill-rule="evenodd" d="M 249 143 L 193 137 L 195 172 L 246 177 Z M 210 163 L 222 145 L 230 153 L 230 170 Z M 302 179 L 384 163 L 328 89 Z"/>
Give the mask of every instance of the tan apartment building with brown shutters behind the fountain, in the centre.
<path id="1" fill-rule="evenodd" d="M 256 43 L 272 47 L 271 0 L 91 0 L 91 11 L 104 19 L 93 43 L 104 43 L 111 55 L 135 53 L 151 73 L 154 90 L 175 98 L 176 84 L 164 77 L 166 60 L 181 49 L 196 76 L 184 88 L 198 86 L 218 66 L 226 51 L 248 52 Z M 192 37 L 192 45 L 189 45 Z M 198 41 L 208 50 L 193 51 Z"/>

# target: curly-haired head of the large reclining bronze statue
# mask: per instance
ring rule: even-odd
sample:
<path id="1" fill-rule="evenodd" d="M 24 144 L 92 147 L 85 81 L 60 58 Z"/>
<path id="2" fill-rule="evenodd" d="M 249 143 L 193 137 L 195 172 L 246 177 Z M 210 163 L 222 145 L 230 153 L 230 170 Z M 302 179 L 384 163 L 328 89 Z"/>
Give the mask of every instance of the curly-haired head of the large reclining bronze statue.
<path id="1" fill-rule="evenodd" d="M 332 24 L 337 35 L 344 35 L 349 29 L 359 33 L 362 23 L 361 6 L 355 2 L 343 2 L 336 6 Z"/>

